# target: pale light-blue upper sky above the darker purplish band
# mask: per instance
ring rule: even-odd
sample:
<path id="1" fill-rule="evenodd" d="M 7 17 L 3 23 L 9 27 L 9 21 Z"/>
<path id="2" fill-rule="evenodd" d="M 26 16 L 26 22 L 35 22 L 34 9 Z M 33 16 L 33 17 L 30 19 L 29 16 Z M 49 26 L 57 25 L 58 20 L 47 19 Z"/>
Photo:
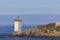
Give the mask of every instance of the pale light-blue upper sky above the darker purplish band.
<path id="1" fill-rule="evenodd" d="M 60 14 L 60 0 L 0 0 L 0 15 Z"/>

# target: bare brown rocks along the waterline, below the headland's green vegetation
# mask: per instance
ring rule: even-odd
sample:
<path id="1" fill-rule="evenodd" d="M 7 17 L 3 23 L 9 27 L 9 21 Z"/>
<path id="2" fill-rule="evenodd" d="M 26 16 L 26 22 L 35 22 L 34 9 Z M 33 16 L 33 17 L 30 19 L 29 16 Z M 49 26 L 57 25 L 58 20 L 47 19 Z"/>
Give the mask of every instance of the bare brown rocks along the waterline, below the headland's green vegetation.
<path id="1" fill-rule="evenodd" d="M 39 32 L 34 32 L 33 30 L 25 30 L 21 34 L 11 34 L 10 36 L 13 37 L 60 37 L 60 32 L 56 33 L 39 33 Z"/>

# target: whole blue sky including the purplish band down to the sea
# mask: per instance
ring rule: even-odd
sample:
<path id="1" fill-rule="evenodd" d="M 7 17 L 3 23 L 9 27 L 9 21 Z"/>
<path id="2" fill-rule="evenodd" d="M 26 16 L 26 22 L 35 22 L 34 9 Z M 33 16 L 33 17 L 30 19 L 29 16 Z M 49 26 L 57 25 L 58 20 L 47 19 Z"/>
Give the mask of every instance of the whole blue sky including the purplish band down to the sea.
<path id="1" fill-rule="evenodd" d="M 14 24 L 16 16 L 23 24 L 60 21 L 60 0 L 0 0 L 0 25 Z"/>

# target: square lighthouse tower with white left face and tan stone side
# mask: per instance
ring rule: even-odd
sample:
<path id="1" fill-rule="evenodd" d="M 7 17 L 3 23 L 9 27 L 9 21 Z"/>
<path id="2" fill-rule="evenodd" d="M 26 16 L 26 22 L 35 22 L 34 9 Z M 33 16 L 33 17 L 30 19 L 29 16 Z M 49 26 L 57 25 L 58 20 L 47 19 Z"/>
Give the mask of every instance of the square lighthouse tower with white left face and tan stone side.
<path id="1" fill-rule="evenodd" d="M 20 19 L 19 17 L 14 19 L 14 32 L 16 34 L 22 33 L 22 19 Z"/>

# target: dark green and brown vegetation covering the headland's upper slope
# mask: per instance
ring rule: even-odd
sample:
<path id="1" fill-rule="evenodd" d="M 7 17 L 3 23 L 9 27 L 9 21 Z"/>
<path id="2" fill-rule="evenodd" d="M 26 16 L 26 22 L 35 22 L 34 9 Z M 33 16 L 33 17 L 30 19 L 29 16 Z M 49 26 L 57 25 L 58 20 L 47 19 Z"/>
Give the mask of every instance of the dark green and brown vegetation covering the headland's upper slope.
<path id="1" fill-rule="evenodd" d="M 38 29 L 41 29 L 41 30 L 49 30 L 50 32 L 51 31 L 60 31 L 60 26 L 57 26 L 57 28 L 55 28 L 55 24 L 54 23 L 50 23 L 50 24 L 47 24 L 47 25 L 38 25 L 37 27 Z"/>

